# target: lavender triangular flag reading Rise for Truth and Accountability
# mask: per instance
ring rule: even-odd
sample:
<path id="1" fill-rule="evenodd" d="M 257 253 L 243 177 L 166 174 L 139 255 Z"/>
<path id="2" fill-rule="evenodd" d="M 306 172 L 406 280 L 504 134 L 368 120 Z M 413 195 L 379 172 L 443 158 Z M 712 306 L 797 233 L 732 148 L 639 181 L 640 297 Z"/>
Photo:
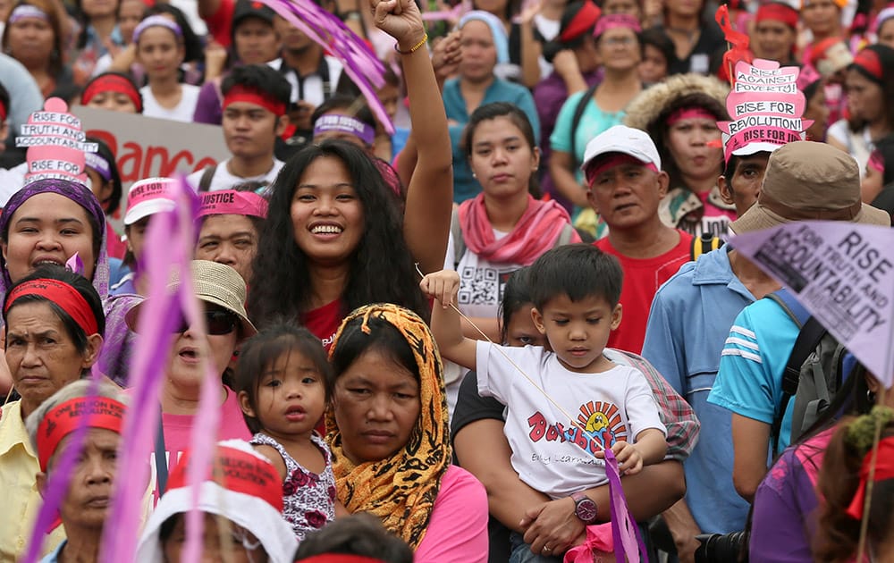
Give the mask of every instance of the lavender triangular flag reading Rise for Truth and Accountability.
<path id="1" fill-rule="evenodd" d="M 885 387 L 894 383 L 894 230 L 786 223 L 738 235 L 730 245 L 791 290 Z"/>

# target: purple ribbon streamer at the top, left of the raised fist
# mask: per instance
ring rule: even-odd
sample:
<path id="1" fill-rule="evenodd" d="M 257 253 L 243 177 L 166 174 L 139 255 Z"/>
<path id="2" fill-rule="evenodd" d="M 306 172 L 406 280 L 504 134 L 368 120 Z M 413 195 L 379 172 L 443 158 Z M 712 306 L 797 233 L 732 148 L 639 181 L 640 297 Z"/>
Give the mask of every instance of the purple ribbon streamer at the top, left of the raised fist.
<path id="1" fill-rule="evenodd" d="M 342 62 L 344 71 L 367 99 L 369 109 L 388 134 L 393 135 L 394 124 L 375 93 L 375 88 L 384 85 L 384 65 L 367 43 L 358 38 L 357 34 L 333 13 L 327 12 L 311 0 L 261 0 L 261 2 Z"/>

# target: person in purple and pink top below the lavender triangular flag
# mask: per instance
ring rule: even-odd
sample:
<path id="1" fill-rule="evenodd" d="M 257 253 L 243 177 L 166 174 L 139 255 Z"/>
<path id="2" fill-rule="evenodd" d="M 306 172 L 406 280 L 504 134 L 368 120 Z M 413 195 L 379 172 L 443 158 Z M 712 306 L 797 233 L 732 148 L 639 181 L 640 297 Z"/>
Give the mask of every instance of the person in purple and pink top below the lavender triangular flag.
<path id="1" fill-rule="evenodd" d="M 751 563 L 811 563 L 820 499 L 816 493 L 822 458 L 841 413 L 862 415 L 882 404 L 881 384 L 860 367 L 845 382 L 814 430 L 782 452 L 755 493 L 748 560 Z M 885 401 L 894 401 L 888 393 Z"/>

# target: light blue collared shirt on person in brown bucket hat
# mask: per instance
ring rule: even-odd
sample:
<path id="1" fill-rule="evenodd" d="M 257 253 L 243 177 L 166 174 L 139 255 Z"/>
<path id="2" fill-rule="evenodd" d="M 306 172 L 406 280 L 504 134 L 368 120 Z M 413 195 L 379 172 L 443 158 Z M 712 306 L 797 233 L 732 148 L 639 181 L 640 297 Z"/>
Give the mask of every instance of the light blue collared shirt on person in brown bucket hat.
<path id="1" fill-rule="evenodd" d="M 680 267 L 655 294 L 643 356 L 687 399 L 702 423 L 696 449 L 684 463 L 686 500 L 703 533 L 745 528 L 748 503 L 732 483 L 732 414 L 707 402 L 721 350 L 737 315 L 755 297 L 730 266 L 730 248 Z"/>

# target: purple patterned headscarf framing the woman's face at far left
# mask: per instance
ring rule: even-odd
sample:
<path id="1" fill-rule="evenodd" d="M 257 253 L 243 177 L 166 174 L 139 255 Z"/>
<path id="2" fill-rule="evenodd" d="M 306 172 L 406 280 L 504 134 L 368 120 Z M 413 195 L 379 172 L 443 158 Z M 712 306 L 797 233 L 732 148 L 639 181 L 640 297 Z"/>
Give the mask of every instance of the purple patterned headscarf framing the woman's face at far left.
<path id="1" fill-rule="evenodd" d="M 90 191 L 87 186 L 76 181 L 58 179 L 38 180 L 27 184 L 25 187 L 15 192 L 13 197 L 9 198 L 9 201 L 6 202 L 6 206 L 3 208 L 3 212 L 0 213 L 0 236 L 8 238 L 10 220 L 12 220 L 13 214 L 15 214 L 19 207 L 21 207 L 21 204 L 25 203 L 33 196 L 46 193 L 54 193 L 63 197 L 68 197 L 73 202 L 83 207 L 97 223 L 100 244 L 99 254 L 96 257 L 97 264 L 93 268 L 93 287 L 96 288 L 99 297 L 105 301 L 105 298 L 107 298 L 109 294 L 109 265 L 108 256 L 106 256 L 105 252 L 105 212 L 103 211 L 103 208 L 99 206 L 97 197 L 93 195 L 93 192 Z M 94 234 L 96 235 L 97 233 Z M 3 275 L 0 276 L 0 301 L 2 301 L 6 295 L 6 290 L 13 285 L 13 281 L 9 277 L 9 270 L 3 267 L 0 271 L 3 273 Z"/>

